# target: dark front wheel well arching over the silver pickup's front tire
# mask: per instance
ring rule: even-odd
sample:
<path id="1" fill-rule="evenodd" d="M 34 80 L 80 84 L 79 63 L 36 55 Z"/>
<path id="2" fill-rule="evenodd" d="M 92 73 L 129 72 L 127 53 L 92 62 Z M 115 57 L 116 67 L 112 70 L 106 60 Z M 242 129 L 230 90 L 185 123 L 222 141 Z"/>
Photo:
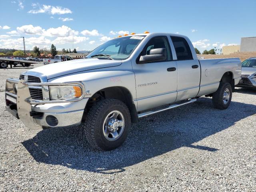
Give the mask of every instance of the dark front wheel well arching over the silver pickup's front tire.
<path id="1" fill-rule="evenodd" d="M 136 111 L 136 106 L 132 102 L 132 95 L 124 87 L 108 87 L 99 90 L 88 100 L 85 112 L 90 110 L 90 108 L 99 100 L 107 98 L 118 99 L 124 102 L 130 110 L 132 123 L 138 122 L 138 114 Z"/>

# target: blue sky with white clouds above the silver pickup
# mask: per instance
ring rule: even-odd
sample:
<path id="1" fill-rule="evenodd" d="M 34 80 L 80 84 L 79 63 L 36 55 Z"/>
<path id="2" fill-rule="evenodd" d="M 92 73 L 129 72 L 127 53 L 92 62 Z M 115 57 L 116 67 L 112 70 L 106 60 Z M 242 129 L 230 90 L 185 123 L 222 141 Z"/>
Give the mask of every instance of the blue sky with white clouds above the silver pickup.
<path id="1" fill-rule="evenodd" d="M 92 50 L 126 32 L 186 35 L 200 51 L 256 36 L 255 0 L 0 0 L 0 48 Z M 2 37 L 5 36 L 5 37 Z M 6 37 L 7 36 L 7 37 Z"/>

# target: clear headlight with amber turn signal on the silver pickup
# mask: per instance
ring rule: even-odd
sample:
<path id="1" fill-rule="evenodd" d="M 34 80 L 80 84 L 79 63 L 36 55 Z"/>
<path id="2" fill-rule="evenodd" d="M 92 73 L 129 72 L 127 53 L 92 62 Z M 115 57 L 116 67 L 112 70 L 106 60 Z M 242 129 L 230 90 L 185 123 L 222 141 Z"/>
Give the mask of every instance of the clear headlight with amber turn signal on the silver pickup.
<path id="1" fill-rule="evenodd" d="M 80 98 L 82 90 L 79 86 L 49 86 L 51 100 L 67 100 Z"/>

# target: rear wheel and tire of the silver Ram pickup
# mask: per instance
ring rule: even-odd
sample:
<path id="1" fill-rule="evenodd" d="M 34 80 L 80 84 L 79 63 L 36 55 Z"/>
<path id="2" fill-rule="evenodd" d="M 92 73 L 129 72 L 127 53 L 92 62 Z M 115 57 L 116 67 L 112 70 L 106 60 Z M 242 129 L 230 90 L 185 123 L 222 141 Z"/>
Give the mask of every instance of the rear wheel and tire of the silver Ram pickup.
<path id="1" fill-rule="evenodd" d="M 224 110 L 228 108 L 232 99 L 232 87 L 230 83 L 220 82 L 218 90 L 212 94 L 214 108 Z"/>

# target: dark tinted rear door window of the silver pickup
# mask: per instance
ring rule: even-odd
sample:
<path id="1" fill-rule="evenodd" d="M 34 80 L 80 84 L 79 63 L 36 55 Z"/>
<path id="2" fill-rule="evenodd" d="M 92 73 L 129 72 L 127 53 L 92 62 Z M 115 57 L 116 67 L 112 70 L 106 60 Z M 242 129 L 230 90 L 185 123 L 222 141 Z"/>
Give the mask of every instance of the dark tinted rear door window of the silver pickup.
<path id="1" fill-rule="evenodd" d="M 171 36 L 178 60 L 192 60 L 192 52 L 188 42 L 183 37 Z"/>

